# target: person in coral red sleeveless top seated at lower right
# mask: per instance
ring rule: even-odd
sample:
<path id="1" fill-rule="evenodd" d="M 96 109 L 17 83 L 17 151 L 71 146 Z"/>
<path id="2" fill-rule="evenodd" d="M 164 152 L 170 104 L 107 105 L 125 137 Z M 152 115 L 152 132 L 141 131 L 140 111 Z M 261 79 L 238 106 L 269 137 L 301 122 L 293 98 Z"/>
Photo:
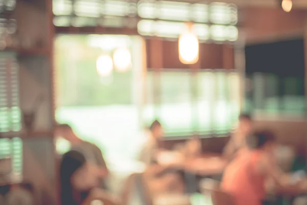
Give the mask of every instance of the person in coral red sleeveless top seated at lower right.
<path id="1" fill-rule="evenodd" d="M 221 189 L 231 194 L 237 205 L 262 204 L 268 179 L 281 187 L 284 175 L 274 160 L 274 145 L 271 132 L 255 132 L 247 138 L 249 151 L 245 155 L 238 155 L 226 167 Z"/>

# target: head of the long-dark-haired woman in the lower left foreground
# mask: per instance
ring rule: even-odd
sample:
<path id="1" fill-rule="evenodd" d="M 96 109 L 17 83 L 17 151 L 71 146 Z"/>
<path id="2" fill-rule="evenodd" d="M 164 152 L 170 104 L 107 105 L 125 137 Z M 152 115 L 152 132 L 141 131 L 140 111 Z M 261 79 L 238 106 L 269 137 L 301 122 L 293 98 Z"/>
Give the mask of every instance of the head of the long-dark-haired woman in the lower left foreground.
<path id="1" fill-rule="evenodd" d="M 60 180 L 62 201 L 70 201 L 73 193 L 87 192 L 97 185 L 96 170 L 83 154 L 69 151 L 62 156 Z"/>

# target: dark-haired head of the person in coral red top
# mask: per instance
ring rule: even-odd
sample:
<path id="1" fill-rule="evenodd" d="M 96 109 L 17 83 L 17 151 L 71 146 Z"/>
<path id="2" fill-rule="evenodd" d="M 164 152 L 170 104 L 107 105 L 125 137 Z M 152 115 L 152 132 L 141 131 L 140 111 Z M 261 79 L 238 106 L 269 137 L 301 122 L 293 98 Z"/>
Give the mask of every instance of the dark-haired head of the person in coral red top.
<path id="1" fill-rule="evenodd" d="M 255 131 L 246 141 L 252 150 L 272 151 L 275 146 L 275 135 L 269 130 Z"/>

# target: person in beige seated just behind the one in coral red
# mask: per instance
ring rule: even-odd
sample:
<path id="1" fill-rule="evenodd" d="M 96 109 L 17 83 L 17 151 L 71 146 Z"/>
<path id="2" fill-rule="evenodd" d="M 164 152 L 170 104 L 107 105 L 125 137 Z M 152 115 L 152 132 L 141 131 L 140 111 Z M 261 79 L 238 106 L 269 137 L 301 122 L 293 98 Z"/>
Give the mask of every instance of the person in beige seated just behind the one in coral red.
<path id="1" fill-rule="evenodd" d="M 248 114 L 240 114 L 238 117 L 238 126 L 233 135 L 231 135 L 223 154 L 225 158 L 231 160 L 234 155 L 246 148 L 246 137 L 253 129 L 253 120 Z"/>

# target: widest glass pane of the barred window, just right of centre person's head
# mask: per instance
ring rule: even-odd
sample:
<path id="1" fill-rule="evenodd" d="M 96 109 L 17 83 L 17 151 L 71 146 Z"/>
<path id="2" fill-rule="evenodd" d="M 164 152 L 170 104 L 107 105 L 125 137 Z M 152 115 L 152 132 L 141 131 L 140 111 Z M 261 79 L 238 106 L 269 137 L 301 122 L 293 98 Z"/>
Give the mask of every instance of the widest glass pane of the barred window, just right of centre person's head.
<path id="1" fill-rule="evenodd" d="M 192 132 L 189 72 L 161 73 L 161 121 L 166 133 Z"/>

